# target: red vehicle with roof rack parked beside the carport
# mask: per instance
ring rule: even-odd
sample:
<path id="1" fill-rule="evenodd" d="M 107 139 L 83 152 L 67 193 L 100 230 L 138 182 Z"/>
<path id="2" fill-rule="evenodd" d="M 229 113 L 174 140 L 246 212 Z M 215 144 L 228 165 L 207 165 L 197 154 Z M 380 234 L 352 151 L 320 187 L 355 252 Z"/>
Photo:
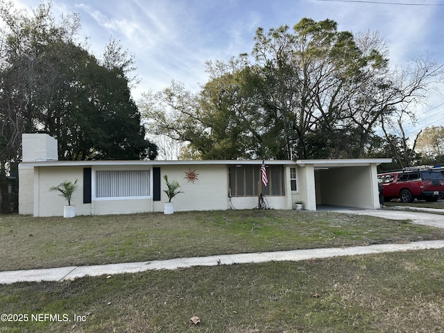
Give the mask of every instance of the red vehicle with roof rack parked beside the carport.
<path id="1" fill-rule="evenodd" d="M 433 169 L 380 173 L 384 201 L 400 198 L 403 203 L 418 200 L 436 201 L 444 198 L 444 175 Z"/>

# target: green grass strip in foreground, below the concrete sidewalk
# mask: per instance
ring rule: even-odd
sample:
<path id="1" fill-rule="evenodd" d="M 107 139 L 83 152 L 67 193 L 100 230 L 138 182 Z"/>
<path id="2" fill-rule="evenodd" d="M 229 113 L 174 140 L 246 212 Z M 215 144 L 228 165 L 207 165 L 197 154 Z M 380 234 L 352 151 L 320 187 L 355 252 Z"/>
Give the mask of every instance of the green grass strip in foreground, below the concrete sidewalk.
<path id="1" fill-rule="evenodd" d="M 71 322 L 0 332 L 443 332 L 443 285 L 443 250 L 17 283 L 1 312 Z"/>

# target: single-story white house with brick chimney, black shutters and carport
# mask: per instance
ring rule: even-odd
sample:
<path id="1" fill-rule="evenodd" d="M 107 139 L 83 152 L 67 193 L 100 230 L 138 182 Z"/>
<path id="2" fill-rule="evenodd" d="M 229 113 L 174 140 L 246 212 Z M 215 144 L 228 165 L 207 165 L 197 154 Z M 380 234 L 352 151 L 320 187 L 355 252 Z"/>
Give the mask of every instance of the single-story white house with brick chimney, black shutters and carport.
<path id="1" fill-rule="evenodd" d="M 72 197 L 77 215 L 163 212 L 166 185 L 178 180 L 183 194 L 174 210 L 253 209 L 262 160 L 58 161 L 57 141 L 44 133 L 23 135 L 19 164 L 19 214 L 62 216 L 65 201 L 49 188 L 78 180 Z M 377 165 L 391 159 L 266 160 L 268 206 L 305 210 L 318 205 L 379 209 Z M 196 175 L 192 179 L 190 175 Z"/>

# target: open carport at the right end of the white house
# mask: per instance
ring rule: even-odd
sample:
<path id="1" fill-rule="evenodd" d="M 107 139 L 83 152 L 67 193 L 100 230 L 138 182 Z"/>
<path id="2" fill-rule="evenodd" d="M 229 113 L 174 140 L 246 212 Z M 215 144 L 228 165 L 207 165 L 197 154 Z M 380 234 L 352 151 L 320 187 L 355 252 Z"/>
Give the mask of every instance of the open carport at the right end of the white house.
<path id="1" fill-rule="evenodd" d="M 312 174 L 307 184 L 308 201 L 320 205 L 379 209 L 377 165 L 391 159 L 298 160 L 296 164 Z M 313 207 L 314 206 L 314 207 Z"/>

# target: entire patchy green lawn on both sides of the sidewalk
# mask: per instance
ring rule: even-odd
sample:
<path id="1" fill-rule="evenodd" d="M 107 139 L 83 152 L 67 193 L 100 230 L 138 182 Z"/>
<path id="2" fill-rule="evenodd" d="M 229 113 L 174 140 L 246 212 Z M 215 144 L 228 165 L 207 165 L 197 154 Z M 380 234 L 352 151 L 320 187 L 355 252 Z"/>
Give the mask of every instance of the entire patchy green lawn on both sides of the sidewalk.
<path id="1" fill-rule="evenodd" d="M 444 230 L 331 212 L 0 216 L 2 270 L 425 239 Z M 443 285 L 443 250 L 23 282 L 0 312 L 28 321 L 0 333 L 443 332 Z"/>

